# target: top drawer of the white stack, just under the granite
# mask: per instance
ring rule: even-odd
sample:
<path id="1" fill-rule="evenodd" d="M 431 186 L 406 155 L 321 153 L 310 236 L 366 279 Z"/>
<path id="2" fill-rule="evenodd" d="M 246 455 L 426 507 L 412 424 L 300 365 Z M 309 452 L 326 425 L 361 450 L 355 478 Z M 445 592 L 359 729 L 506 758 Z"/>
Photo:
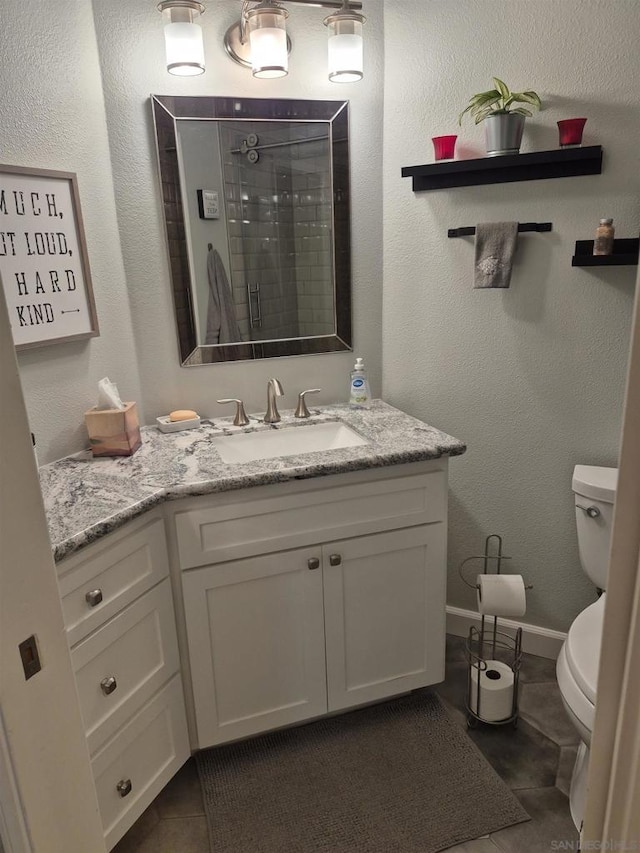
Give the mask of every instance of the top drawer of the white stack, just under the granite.
<path id="1" fill-rule="evenodd" d="M 112 533 L 58 566 L 69 645 L 73 646 L 169 574 L 164 521 Z M 87 600 L 95 592 L 95 605 Z"/>

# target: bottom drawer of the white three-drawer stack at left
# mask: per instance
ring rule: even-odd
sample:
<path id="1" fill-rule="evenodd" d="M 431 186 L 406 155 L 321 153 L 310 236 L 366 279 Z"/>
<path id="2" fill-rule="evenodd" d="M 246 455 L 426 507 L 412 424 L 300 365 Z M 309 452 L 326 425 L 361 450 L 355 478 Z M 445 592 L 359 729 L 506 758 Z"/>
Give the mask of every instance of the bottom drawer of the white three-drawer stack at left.
<path id="1" fill-rule="evenodd" d="M 108 850 L 188 758 L 184 697 L 177 675 L 91 762 Z"/>

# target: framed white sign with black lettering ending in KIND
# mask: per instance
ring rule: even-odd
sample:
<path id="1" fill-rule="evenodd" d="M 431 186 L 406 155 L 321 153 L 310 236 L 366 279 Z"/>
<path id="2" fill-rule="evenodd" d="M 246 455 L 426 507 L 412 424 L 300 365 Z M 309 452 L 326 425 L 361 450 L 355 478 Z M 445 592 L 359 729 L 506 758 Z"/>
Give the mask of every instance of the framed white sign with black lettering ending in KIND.
<path id="1" fill-rule="evenodd" d="M 16 349 L 100 334 L 73 172 L 0 165 L 0 276 Z"/>

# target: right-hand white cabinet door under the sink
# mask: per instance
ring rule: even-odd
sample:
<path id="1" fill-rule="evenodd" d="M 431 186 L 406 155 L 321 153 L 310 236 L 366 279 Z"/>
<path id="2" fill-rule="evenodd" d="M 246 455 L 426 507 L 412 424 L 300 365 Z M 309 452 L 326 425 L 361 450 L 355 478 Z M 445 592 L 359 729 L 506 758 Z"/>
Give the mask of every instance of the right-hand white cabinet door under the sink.
<path id="1" fill-rule="evenodd" d="M 444 678 L 446 526 L 323 547 L 330 711 Z"/>

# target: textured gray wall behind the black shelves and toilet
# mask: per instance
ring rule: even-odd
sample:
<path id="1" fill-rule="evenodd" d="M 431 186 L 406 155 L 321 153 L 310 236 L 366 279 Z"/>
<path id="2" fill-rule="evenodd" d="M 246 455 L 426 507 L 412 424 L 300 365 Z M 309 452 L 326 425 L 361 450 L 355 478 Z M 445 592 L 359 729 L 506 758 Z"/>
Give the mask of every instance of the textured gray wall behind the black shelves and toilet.
<path id="1" fill-rule="evenodd" d="M 383 393 L 468 442 L 450 467 L 451 604 L 475 609 L 457 566 L 489 533 L 535 585 L 527 621 L 566 629 L 595 598 L 571 472 L 616 464 L 636 270 L 571 256 L 602 216 L 638 234 L 639 41 L 636 0 L 385 3 Z M 432 136 L 483 155 L 482 129 L 457 115 L 494 74 L 548 105 L 523 150 L 557 147 L 556 120 L 584 115 L 603 174 L 414 195 L 400 169 L 433 162 Z M 447 228 L 509 219 L 553 232 L 521 236 L 509 290 L 472 290 L 472 239 Z"/>

